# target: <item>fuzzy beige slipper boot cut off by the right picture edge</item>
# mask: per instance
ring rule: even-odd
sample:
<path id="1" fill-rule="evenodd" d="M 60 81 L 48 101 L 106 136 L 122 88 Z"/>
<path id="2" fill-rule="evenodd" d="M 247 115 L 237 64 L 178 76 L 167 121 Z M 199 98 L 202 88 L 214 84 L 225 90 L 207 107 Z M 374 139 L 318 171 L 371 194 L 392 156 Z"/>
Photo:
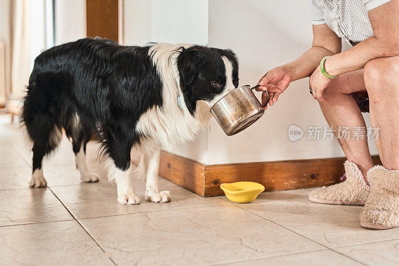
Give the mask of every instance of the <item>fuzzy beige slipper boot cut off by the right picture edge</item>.
<path id="1" fill-rule="evenodd" d="M 377 165 L 367 172 L 370 197 L 360 213 L 360 225 L 370 229 L 399 226 L 399 171 Z"/>

